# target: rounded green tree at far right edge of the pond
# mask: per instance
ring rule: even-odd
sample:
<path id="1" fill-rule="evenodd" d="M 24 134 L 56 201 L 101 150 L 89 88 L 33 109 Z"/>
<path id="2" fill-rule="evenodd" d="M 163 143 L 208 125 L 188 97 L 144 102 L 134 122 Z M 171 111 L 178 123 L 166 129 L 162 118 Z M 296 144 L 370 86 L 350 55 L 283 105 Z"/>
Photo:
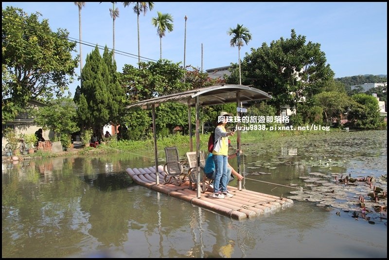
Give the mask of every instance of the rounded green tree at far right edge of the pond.
<path id="1" fill-rule="evenodd" d="M 354 102 L 347 116 L 350 126 L 357 129 L 380 128 L 383 120 L 380 119 L 377 98 L 360 93 L 353 95 L 352 99 Z"/>

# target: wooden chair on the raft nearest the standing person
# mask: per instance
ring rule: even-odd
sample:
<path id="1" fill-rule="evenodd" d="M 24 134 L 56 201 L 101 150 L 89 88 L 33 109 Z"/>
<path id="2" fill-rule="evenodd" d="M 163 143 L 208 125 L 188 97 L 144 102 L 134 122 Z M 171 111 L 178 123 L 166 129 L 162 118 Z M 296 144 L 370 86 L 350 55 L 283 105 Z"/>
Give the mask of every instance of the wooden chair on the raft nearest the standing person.
<path id="1" fill-rule="evenodd" d="M 188 158 L 189 170 L 189 188 L 195 190 L 197 187 L 197 154 L 194 152 L 187 152 L 186 157 Z M 213 179 L 207 178 L 204 173 L 205 158 L 204 153 L 200 151 L 200 181 L 201 181 L 201 192 L 205 193 L 212 183 Z"/>

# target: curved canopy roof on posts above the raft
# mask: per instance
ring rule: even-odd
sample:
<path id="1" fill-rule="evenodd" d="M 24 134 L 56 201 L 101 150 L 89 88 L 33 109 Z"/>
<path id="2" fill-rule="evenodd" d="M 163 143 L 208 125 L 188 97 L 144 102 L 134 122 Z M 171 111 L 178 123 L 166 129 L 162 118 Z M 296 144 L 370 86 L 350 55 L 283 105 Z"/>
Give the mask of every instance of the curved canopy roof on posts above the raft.
<path id="1" fill-rule="evenodd" d="M 162 97 L 154 97 L 147 100 L 132 103 L 127 108 L 142 107 L 159 104 L 163 102 L 179 102 L 195 106 L 195 97 L 199 97 L 201 106 L 211 106 L 236 102 L 236 93 L 239 92 L 239 102 L 262 100 L 272 98 L 271 95 L 257 88 L 244 85 L 215 85 L 210 87 L 192 89 L 180 93 L 170 94 Z"/>

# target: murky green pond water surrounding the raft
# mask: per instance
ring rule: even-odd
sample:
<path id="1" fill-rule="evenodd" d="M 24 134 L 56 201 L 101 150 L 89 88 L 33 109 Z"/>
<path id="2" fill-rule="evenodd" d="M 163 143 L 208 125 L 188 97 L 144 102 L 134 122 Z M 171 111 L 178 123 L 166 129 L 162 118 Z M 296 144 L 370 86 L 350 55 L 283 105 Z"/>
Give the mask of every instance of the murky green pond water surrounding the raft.
<path id="1" fill-rule="evenodd" d="M 152 153 L 3 163 L 2 258 L 387 258 L 386 206 L 370 211 L 367 181 L 339 182 L 387 191 L 387 131 L 242 133 L 242 150 L 243 187 L 294 206 L 241 221 L 192 206 L 132 182 L 125 169 L 153 166 Z M 330 203 L 307 196 L 326 185 Z"/>

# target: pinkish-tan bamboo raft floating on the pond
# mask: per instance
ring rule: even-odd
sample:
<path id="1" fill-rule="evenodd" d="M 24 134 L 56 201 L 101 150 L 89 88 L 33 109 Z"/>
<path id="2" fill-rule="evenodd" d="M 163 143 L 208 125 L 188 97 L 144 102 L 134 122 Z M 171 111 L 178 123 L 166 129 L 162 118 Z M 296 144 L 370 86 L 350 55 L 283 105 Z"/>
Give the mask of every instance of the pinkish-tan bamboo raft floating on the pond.
<path id="1" fill-rule="evenodd" d="M 236 187 L 227 186 L 234 196 L 224 199 L 213 198 L 207 191 L 197 198 L 196 191 L 189 188 L 189 180 L 184 180 L 180 186 L 174 183 L 164 183 L 163 166 L 158 166 L 160 184 L 156 184 L 155 166 L 148 168 L 127 168 L 126 172 L 138 184 L 153 189 L 157 192 L 190 202 L 192 205 L 208 209 L 231 218 L 243 220 L 266 213 L 271 213 L 293 205 L 293 200 L 267 195 L 246 189 L 238 190 Z"/>

